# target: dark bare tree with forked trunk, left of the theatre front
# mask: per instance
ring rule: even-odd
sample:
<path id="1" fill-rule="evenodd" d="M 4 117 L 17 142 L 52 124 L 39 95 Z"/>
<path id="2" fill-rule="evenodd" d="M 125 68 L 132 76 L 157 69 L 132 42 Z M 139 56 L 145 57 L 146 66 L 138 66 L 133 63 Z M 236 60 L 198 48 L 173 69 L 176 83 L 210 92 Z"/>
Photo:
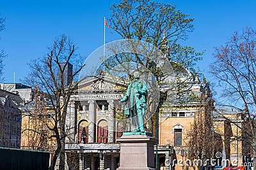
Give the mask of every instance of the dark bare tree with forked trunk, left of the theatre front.
<path id="1" fill-rule="evenodd" d="M 51 137 L 56 139 L 57 145 L 50 169 L 54 169 L 59 154 L 59 169 L 65 167 L 65 138 L 68 133 L 68 129 L 65 129 L 65 119 L 68 102 L 72 92 L 77 88 L 76 80 L 83 68 L 83 62 L 83 57 L 76 53 L 74 43 L 62 35 L 54 40 L 47 56 L 32 60 L 29 64 L 30 73 L 26 82 L 42 90 L 52 106 L 52 121 L 47 127 L 52 131 Z M 67 73 L 70 63 L 73 64 L 73 71 Z"/>

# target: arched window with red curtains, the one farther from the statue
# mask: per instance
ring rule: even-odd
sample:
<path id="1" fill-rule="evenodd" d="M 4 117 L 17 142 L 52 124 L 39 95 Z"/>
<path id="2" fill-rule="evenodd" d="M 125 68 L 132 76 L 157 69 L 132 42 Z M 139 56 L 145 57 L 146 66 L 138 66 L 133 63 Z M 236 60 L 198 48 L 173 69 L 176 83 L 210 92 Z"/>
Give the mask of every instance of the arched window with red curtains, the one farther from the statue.
<path id="1" fill-rule="evenodd" d="M 78 127 L 78 141 L 79 143 L 88 143 L 88 122 L 82 120 Z M 83 142 L 82 142 L 83 141 Z"/>

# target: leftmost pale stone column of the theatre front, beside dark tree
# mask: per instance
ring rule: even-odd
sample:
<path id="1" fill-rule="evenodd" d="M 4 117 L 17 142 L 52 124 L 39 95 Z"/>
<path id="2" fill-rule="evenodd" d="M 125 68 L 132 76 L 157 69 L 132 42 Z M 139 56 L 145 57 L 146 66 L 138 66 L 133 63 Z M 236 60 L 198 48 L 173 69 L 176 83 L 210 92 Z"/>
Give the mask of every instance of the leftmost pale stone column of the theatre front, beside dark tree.
<path id="1" fill-rule="evenodd" d="M 70 101 L 68 103 L 67 115 L 66 115 L 66 128 L 68 130 L 68 137 L 65 139 L 68 143 L 75 142 L 76 136 L 76 103 L 75 101 Z"/>

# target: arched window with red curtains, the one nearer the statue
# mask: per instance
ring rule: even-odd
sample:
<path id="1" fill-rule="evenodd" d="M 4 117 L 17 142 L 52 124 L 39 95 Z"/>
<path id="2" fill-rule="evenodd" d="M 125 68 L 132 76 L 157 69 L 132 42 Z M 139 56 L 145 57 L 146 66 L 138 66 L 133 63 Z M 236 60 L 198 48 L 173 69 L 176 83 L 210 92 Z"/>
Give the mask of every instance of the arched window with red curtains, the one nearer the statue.
<path id="1" fill-rule="evenodd" d="M 108 122 L 106 120 L 100 120 L 97 129 L 98 129 L 97 142 L 108 143 Z"/>

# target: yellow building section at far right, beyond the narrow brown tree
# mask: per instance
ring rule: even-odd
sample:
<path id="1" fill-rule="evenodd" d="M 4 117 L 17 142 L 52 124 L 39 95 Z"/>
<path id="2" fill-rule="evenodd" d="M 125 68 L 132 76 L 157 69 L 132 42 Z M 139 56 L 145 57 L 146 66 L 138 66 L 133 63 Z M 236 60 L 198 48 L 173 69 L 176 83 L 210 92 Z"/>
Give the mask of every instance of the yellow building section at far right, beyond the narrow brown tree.
<path id="1" fill-rule="evenodd" d="M 218 136 L 223 154 L 230 164 L 241 166 L 243 163 L 243 118 L 242 114 L 231 108 L 218 109 L 214 111 L 214 132 Z M 220 147 L 221 148 L 221 147 Z"/>

